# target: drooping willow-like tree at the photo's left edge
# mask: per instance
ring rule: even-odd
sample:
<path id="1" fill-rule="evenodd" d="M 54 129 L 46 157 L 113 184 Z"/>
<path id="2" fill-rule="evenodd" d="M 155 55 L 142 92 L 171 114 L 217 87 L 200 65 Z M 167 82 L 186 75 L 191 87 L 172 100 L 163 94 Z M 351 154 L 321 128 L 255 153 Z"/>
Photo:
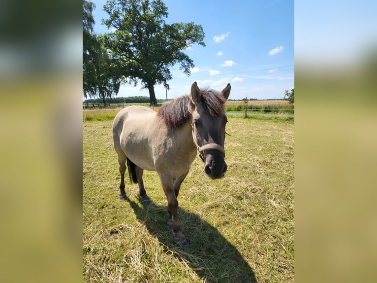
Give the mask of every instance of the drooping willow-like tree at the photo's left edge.
<path id="1" fill-rule="evenodd" d="M 93 33 L 94 3 L 83 0 L 83 94 L 105 98 L 117 94 L 121 84 L 118 60 L 109 55 L 100 36 Z"/>

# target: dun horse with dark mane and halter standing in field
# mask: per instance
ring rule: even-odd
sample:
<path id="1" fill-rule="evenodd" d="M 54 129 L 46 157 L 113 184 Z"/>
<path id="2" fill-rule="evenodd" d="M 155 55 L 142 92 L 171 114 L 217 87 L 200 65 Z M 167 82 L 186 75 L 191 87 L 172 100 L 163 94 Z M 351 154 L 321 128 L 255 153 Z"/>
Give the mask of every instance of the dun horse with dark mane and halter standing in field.
<path id="1" fill-rule="evenodd" d="M 199 153 L 204 172 L 211 179 L 224 176 L 225 124 L 224 104 L 230 84 L 220 92 L 191 85 L 189 95 L 174 99 L 157 112 L 145 106 L 128 106 L 118 112 L 113 122 L 114 148 L 121 173 L 120 199 L 125 192 L 126 164 L 130 182 L 139 185 L 142 204 L 151 203 L 143 183 L 144 170 L 156 171 L 167 198 L 174 242 L 187 247 L 178 219 L 177 197 L 192 162 Z"/>

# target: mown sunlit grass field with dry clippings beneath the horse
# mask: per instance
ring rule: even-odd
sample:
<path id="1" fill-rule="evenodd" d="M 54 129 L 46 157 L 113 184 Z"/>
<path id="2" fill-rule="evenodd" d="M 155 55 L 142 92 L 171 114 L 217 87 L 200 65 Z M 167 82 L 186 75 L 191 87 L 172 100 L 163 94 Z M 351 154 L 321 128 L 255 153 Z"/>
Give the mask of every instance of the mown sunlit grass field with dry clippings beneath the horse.
<path id="1" fill-rule="evenodd" d="M 167 201 L 145 171 L 152 204 L 120 174 L 111 120 L 83 123 L 83 282 L 294 282 L 294 124 L 229 117 L 228 171 L 220 180 L 197 157 L 178 198 L 179 248 Z"/>

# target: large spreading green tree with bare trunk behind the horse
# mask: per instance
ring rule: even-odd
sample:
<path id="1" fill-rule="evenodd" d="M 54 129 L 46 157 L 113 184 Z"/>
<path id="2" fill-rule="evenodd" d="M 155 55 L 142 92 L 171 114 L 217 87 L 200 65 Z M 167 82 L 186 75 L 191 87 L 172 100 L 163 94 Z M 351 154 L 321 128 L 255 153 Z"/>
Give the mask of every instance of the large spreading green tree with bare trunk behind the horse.
<path id="1" fill-rule="evenodd" d="M 121 64 L 122 75 L 136 86 L 149 91 L 151 104 L 156 104 L 154 86 L 172 79 L 169 67 L 179 63 L 179 70 L 190 75 L 193 61 L 183 50 L 203 42 L 204 32 L 194 23 L 165 24 L 168 9 L 162 0 L 108 0 L 104 11 L 109 19 L 103 23 L 115 31 L 104 35 L 105 45 Z"/>

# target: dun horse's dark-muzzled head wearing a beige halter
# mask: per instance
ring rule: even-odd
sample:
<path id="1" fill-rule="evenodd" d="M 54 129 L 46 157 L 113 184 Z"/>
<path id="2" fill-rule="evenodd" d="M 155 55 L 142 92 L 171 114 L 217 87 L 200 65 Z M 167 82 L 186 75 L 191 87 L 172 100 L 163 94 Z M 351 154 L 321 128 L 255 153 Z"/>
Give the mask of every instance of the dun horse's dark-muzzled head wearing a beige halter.
<path id="1" fill-rule="evenodd" d="M 224 103 L 229 97 L 230 84 L 220 92 L 200 90 L 194 82 L 190 98 L 195 105 L 192 111 L 192 138 L 204 162 L 204 172 L 211 179 L 224 176 L 225 163 L 225 124 L 227 118 Z"/>

